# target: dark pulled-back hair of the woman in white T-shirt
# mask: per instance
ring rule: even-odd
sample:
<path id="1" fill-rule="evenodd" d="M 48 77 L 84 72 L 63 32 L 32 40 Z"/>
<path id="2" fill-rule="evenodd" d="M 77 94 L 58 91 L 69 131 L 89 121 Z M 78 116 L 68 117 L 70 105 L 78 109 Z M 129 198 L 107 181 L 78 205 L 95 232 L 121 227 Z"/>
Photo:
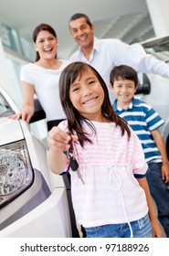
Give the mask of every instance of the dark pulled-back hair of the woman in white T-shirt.
<path id="1" fill-rule="evenodd" d="M 37 35 L 38 35 L 38 33 L 39 33 L 40 31 L 48 31 L 50 34 L 52 34 L 54 37 L 57 38 L 57 34 L 56 34 L 54 28 L 51 27 L 51 26 L 49 26 L 48 24 L 42 23 L 42 24 L 38 25 L 38 26 L 34 29 L 34 32 L 33 32 L 33 35 L 32 35 L 34 43 L 36 43 L 36 41 L 37 41 Z M 57 56 L 56 56 L 56 58 L 57 58 Z M 39 56 L 39 54 L 38 54 L 38 52 L 37 52 L 36 61 L 37 61 L 38 59 L 40 59 L 40 56 Z"/>

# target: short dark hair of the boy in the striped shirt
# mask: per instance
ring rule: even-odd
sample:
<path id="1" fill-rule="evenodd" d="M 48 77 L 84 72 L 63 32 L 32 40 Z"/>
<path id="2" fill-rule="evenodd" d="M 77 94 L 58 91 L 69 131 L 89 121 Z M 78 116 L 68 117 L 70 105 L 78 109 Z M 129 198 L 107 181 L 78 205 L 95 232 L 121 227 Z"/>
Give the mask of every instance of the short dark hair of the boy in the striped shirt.
<path id="1" fill-rule="evenodd" d="M 111 70 L 110 74 L 110 82 L 112 86 L 115 80 L 132 80 L 135 86 L 137 86 L 137 72 L 127 65 L 116 66 Z"/>

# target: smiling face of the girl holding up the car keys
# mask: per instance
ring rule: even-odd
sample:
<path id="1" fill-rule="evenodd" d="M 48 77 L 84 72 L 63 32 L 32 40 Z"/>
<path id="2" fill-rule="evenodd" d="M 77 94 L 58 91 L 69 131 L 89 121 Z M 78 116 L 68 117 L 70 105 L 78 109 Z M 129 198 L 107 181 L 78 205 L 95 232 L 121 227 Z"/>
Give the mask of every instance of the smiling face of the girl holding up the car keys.
<path id="1" fill-rule="evenodd" d="M 101 105 L 104 101 L 104 91 L 90 69 L 84 70 L 70 85 L 69 99 L 84 118 L 102 121 Z"/>

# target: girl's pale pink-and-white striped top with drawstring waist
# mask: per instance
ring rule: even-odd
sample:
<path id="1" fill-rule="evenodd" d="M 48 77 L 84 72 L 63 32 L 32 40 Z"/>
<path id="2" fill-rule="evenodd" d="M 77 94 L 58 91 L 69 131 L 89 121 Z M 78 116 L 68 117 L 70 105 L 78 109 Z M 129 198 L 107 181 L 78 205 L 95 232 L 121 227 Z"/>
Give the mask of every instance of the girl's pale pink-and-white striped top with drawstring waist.
<path id="1" fill-rule="evenodd" d="M 142 219 L 148 213 L 146 197 L 133 175 L 145 175 L 148 167 L 137 135 L 131 130 L 128 140 L 127 133 L 121 136 L 114 123 L 92 123 L 97 135 L 91 134 L 86 123 L 84 127 L 93 144 L 86 143 L 84 148 L 73 144 L 85 185 L 77 172 L 69 171 L 78 223 L 96 227 Z M 67 121 L 58 126 L 67 131 Z"/>

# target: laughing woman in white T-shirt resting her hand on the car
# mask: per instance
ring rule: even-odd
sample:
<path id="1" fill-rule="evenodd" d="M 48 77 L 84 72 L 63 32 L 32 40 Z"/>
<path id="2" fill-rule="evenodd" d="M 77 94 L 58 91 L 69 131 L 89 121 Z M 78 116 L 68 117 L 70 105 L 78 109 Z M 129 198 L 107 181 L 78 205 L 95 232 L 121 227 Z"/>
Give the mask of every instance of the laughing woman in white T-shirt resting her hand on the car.
<path id="1" fill-rule="evenodd" d="M 68 60 L 57 59 L 58 38 L 53 27 L 40 24 L 33 32 L 37 51 L 35 63 L 28 63 L 21 69 L 23 106 L 21 112 L 11 119 L 22 118 L 29 123 L 34 114 L 34 95 L 46 112 L 48 131 L 65 118 L 58 95 L 58 79 L 61 71 L 69 64 Z"/>

